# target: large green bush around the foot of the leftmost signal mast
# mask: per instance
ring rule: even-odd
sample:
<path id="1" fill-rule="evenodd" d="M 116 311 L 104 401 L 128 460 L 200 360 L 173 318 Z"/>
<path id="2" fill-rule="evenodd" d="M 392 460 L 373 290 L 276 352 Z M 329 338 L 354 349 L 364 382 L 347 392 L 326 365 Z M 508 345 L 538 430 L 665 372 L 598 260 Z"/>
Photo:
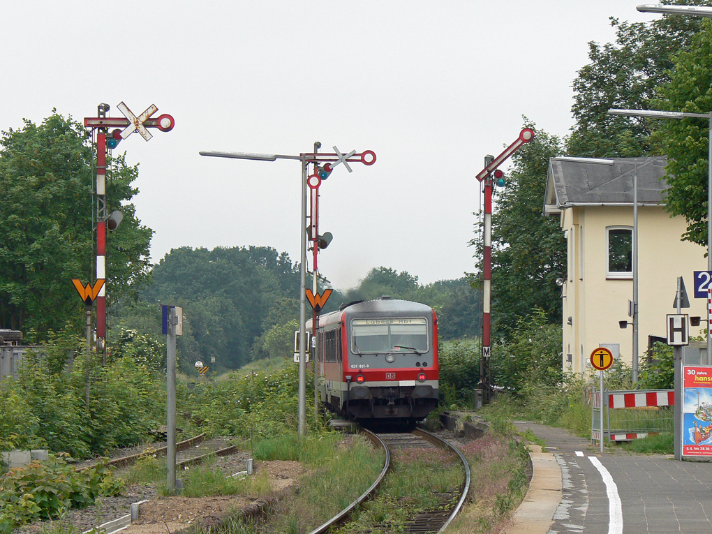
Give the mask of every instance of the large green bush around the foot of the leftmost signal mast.
<path id="1" fill-rule="evenodd" d="M 107 367 L 94 358 L 89 369 L 78 357 L 71 370 L 55 371 L 48 358 L 29 357 L 19 377 L 4 383 L 0 406 L 9 417 L 0 422 L 0 442 L 46 444 L 52 451 L 85 458 L 147 441 L 150 429 L 164 420 L 161 385 L 130 357 Z"/>

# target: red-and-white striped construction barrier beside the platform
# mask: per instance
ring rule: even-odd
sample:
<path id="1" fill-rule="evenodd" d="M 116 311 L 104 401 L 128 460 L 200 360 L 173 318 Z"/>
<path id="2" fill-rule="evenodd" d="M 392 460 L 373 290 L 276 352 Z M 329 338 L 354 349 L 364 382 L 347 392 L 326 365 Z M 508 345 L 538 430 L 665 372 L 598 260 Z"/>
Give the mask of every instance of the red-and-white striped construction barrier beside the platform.
<path id="1" fill-rule="evenodd" d="M 604 437 L 609 441 L 632 441 L 649 434 L 674 431 L 675 405 L 673 389 L 647 389 L 604 392 L 594 391 L 591 414 L 591 441 L 601 439 L 601 417 L 604 417 Z"/>

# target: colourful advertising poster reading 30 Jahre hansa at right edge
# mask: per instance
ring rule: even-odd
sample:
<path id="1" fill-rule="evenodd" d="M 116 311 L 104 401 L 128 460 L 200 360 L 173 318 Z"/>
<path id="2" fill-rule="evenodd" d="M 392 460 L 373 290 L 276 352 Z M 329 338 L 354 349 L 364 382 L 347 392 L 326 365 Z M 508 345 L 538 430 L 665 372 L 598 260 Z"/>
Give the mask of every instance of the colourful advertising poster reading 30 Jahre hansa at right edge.
<path id="1" fill-rule="evenodd" d="M 712 456 L 712 367 L 684 366 L 682 456 Z"/>

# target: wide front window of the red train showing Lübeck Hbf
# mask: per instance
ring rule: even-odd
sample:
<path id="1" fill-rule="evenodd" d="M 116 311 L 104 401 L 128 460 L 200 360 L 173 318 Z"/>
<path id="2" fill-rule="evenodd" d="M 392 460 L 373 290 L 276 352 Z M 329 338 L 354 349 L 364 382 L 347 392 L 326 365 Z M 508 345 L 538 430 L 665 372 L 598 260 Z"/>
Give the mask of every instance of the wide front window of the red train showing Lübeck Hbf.
<path id="1" fill-rule="evenodd" d="M 425 318 L 354 319 L 351 345 L 356 354 L 375 352 L 427 352 Z"/>

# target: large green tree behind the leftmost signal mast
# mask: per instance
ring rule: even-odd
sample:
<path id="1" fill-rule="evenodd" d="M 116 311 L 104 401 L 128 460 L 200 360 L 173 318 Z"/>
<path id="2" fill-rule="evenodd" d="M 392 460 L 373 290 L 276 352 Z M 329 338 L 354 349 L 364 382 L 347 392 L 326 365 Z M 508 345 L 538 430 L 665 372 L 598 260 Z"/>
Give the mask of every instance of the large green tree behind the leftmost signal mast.
<path id="1" fill-rule="evenodd" d="M 83 304 L 71 278 L 92 273 L 93 154 L 87 130 L 56 112 L 40 125 L 0 138 L 0 328 L 43 339 L 69 321 L 80 328 Z M 125 214 L 107 240 L 108 296 L 135 295 L 147 281 L 152 231 L 130 203 L 136 167 L 114 159 L 109 208 Z"/>

